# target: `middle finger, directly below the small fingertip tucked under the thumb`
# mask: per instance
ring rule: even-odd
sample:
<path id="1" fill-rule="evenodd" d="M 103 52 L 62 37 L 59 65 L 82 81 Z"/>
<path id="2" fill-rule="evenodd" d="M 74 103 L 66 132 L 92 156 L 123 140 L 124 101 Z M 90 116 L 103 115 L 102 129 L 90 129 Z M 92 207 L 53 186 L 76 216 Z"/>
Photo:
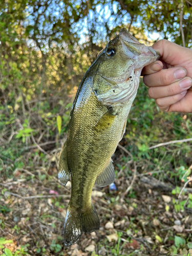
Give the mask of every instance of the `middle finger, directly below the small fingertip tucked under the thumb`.
<path id="1" fill-rule="evenodd" d="M 168 86 L 168 84 L 185 77 L 186 73 L 186 69 L 179 67 L 162 69 L 157 73 L 143 76 L 143 82 L 148 87 Z"/>

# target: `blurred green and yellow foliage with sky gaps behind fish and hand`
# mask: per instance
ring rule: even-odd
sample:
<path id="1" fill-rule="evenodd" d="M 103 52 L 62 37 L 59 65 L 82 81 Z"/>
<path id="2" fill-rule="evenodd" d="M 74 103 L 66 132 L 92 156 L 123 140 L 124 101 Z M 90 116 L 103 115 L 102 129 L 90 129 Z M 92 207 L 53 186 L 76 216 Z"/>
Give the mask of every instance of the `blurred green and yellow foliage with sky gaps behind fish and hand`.
<path id="1" fill-rule="evenodd" d="M 49 169 L 55 152 L 57 165 L 83 74 L 122 27 L 147 45 L 156 37 L 190 48 L 191 12 L 188 0 L 1 1 L 1 177 L 13 178 L 15 170 L 26 166 Z M 141 82 L 121 142 L 133 155 L 138 175 L 154 172 L 154 177 L 180 186 L 191 164 L 191 143 L 148 148 L 191 138 L 191 122 L 191 114 L 159 111 Z M 125 169 L 129 177 L 133 166 L 126 163 L 131 157 L 119 156 L 117 150 L 115 168 Z M 43 175 L 42 180 L 47 177 Z"/>

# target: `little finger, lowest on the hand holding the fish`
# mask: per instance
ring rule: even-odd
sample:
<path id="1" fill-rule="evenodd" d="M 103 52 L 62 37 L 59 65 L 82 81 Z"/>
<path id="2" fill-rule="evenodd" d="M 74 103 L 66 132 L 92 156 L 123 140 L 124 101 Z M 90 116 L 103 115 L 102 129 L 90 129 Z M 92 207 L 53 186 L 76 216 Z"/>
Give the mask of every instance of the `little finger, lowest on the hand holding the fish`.
<path id="1" fill-rule="evenodd" d="M 159 98 L 159 99 L 156 99 L 155 102 L 160 110 L 164 110 L 164 111 L 168 112 L 170 105 L 173 105 L 176 102 L 178 102 L 179 100 L 181 100 L 186 95 L 186 93 L 187 93 L 187 91 L 184 91 L 182 93 L 179 93 L 179 94 L 176 94 L 173 96 Z"/>

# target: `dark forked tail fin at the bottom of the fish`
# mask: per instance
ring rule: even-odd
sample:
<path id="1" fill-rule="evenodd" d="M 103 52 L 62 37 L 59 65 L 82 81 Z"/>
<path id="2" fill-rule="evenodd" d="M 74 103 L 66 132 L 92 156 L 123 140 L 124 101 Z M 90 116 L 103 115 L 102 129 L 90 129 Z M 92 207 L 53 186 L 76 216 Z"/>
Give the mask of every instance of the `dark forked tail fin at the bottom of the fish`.
<path id="1" fill-rule="evenodd" d="M 64 227 L 64 243 L 70 246 L 80 239 L 83 232 L 91 233 L 99 228 L 100 221 L 93 204 L 90 210 L 80 212 L 69 205 Z"/>

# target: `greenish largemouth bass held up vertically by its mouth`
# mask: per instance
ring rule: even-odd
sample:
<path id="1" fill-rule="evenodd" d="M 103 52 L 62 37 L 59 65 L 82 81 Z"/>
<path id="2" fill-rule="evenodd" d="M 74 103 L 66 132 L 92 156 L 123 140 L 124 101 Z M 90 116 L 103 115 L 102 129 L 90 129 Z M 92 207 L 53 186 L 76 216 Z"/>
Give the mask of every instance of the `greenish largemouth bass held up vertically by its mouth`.
<path id="1" fill-rule="evenodd" d="M 158 58 L 155 50 L 140 44 L 123 28 L 80 82 L 58 167 L 61 184 L 66 185 L 71 176 L 71 199 L 64 225 L 66 246 L 76 243 L 83 232 L 100 228 L 91 200 L 93 186 L 114 182 L 111 157 L 125 132 L 141 70 Z"/>

